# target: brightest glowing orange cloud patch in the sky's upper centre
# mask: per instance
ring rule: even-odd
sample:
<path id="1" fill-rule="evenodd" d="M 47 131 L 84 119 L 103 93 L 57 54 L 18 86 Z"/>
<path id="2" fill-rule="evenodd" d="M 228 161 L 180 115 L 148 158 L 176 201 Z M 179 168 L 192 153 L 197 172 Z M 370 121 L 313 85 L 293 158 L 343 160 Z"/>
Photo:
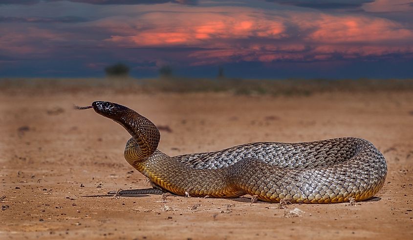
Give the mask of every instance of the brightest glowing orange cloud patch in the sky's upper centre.
<path id="1" fill-rule="evenodd" d="M 140 22 L 150 29 L 130 32 L 128 36 L 113 35 L 107 41 L 134 46 L 214 45 L 208 40 L 246 39 L 248 37 L 286 37 L 283 22 L 266 19 L 263 13 L 253 16 L 242 13 L 148 13 Z M 153 19 L 156 19 L 152 21 Z"/>

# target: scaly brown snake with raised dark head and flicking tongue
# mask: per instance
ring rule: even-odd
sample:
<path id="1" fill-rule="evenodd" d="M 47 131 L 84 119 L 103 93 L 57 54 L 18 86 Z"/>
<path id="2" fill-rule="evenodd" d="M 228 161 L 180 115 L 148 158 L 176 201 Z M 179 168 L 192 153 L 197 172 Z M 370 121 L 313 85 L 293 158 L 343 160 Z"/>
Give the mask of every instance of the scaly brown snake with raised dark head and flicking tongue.
<path id="1" fill-rule="evenodd" d="M 361 138 L 257 142 L 171 157 L 157 149 L 160 132 L 155 124 L 136 111 L 106 101 L 77 108 L 93 108 L 130 133 L 124 157 L 149 179 L 153 193 L 211 198 L 251 195 L 271 203 L 283 199 L 290 203 L 358 202 L 373 197 L 387 175 L 383 154 Z"/>

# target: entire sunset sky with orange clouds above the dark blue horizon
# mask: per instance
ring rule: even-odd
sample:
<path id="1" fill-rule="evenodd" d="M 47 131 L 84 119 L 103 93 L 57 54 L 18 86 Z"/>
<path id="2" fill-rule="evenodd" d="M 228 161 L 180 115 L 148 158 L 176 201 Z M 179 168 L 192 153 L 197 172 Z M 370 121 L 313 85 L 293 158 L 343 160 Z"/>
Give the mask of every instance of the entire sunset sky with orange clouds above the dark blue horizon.
<path id="1" fill-rule="evenodd" d="M 413 78 L 412 0 L 0 0 L 0 77 Z"/>

